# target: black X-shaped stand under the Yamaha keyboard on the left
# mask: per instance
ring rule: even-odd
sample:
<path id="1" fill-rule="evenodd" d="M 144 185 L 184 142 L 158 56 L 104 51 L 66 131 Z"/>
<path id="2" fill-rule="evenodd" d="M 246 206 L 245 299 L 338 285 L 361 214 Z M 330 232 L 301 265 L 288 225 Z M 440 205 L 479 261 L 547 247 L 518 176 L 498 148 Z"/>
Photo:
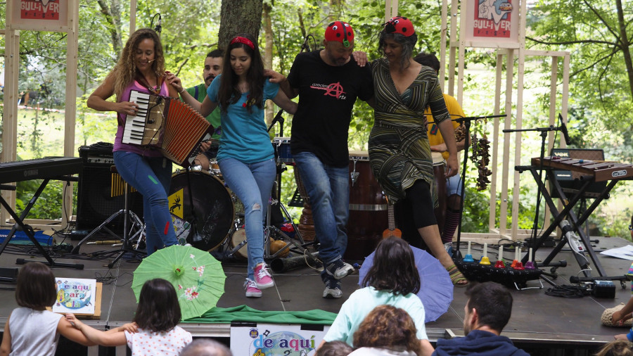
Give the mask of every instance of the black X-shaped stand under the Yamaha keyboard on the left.
<path id="1" fill-rule="evenodd" d="M 55 180 L 65 181 L 65 182 L 70 182 L 70 181 L 76 180 L 73 177 L 67 177 L 67 176 L 58 177 L 58 178 L 54 178 L 54 179 Z M 35 234 L 34 234 L 33 228 L 30 227 L 29 225 L 25 225 L 24 224 L 24 220 L 27 217 L 29 211 L 31 210 L 33 205 L 35 205 L 35 201 L 37 201 L 37 198 L 39 198 L 39 196 L 41 195 L 41 192 L 44 191 L 44 188 L 46 188 L 46 185 L 49 184 L 50 180 L 51 179 L 44 179 L 41 182 L 41 184 L 39 185 L 39 188 L 37 189 L 37 191 L 35 192 L 35 194 L 31 198 L 29 203 L 26 205 L 26 207 L 25 207 L 25 209 L 22 212 L 22 215 L 20 217 L 18 217 L 18 215 L 15 214 L 15 211 L 11 208 L 11 206 L 9 206 L 8 203 L 4 200 L 4 198 L 2 196 L 0 196 L 0 204 L 6 209 L 6 211 L 9 213 L 9 215 L 11 215 L 11 217 L 13 217 L 13 220 L 15 220 L 15 224 L 13 224 L 13 228 L 11 228 L 11 231 L 9 231 L 9 233 L 6 236 L 6 238 L 4 239 L 4 242 L 2 243 L 2 246 L 0 246 L 0 255 L 4 252 L 4 249 L 8 245 L 9 241 L 11 241 L 11 238 L 13 238 L 13 235 L 15 234 L 15 231 L 19 230 L 19 231 L 24 231 L 24 233 L 28 236 L 28 238 L 34 244 L 35 248 L 37 248 L 39 253 L 41 253 L 41 255 L 43 255 L 44 258 L 46 258 L 46 262 L 43 262 L 43 261 L 39 261 L 39 262 L 44 263 L 44 265 L 49 265 L 50 267 L 68 267 L 68 268 L 75 268 L 75 269 L 84 269 L 84 265 L 79 264 L 79 263 L 73 264 L 73 263 L 59 263 L 59 262 L 55 262 L 55 260 L 53 260 L 53 258 L 51 258 L 49 253 L 46 252 L 46 250 L 44 250 L 43 247 L 41 247 L 41 245 L 39 244 L 37 239 L 35 239 Z M 0 186 L 0 189 L 15 190 L 15 186 L 2 184 Z M 37 262 L 37 261 L 25 260 L 24 258 L 18 258 L 18 260 L 15 261 L 15 263 L 17 265 L 24 265 L 27 262 Z"/>

